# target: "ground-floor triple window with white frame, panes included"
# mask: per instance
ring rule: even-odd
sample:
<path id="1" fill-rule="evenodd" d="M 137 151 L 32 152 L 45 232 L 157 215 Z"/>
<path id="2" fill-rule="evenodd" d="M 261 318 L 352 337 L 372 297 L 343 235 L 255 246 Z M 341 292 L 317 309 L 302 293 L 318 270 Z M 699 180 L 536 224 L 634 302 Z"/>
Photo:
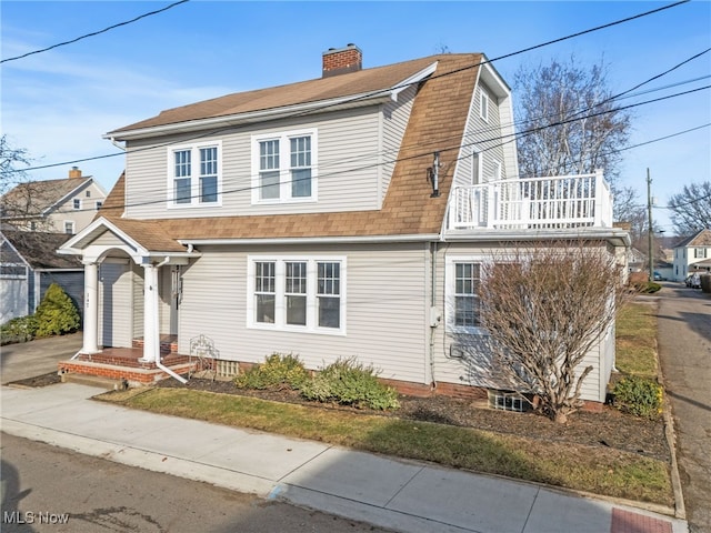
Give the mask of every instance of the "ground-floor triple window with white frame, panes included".
<path id="1" fill-rule="evenodd" d="M 344 258 L 248 258 L 248 326 L 346 333 Z"/>

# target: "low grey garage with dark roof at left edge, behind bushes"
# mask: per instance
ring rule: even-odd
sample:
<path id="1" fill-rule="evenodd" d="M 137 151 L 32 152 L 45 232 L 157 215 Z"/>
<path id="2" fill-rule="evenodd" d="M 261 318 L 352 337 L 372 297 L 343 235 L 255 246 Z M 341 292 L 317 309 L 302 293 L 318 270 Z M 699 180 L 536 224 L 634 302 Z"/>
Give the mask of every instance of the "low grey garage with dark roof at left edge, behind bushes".
<path id="1" fill-rule="evenodd" d="M 78 258 L 57 253 L 70 237 L 64 233 L 0 232 L 0 323 L 34 313 L 52 283 L 69 294 L 81 313 L 83 265 Z"/>

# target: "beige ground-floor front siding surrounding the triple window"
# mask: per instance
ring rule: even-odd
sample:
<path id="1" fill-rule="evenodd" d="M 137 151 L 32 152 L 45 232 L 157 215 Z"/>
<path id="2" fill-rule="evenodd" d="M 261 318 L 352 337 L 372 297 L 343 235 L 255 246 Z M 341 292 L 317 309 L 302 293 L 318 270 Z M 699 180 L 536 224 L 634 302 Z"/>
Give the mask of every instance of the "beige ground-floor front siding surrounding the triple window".
<path id="1" fill-rule="evenodd" d="M 346 335 L 248 328 L 248 258 L 267 250 L 202 247 L 201 251 L 203 255 L 183 271 L 181 353 L 189 350 L 191 338 L 204 334 L 223 359 L 258 363 L 274 352 L 293 353 L 318 370 L 339 356 L 357 356 L 379 369 L 381 378 L 424 383 L 430 330 L 425 245 L 288 248 L 284 260 L 294 262 L 346 259 Z"/>

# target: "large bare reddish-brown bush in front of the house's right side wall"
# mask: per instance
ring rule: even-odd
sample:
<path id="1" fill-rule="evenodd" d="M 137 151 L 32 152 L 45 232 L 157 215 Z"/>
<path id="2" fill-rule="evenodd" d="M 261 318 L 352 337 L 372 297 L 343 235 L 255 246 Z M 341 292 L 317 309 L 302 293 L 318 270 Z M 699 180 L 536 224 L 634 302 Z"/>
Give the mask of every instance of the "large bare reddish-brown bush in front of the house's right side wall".
<path id="1" fill-rule="evenodd" d="M 519 392 L 564 423 L 593 370 L 583 360 L 628 294 L 621 266 L 601 242 L 518 247 L 483 265 L 481 318 L 494 366 Z"/>

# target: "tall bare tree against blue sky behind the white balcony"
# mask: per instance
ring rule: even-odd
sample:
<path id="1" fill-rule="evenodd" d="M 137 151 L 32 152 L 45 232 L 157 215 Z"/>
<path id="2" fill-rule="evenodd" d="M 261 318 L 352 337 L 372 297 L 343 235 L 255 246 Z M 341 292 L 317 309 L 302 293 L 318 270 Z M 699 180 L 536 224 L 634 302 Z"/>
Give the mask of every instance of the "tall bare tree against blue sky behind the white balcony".
<path id="1" fill-rule="evenodd" d="M 605 67 L 564 63 L 525 66 L 513 78 L 519 168 L 524 177 L 591 173 L 603 169 L 615 188 L 630 114 L 608 88 Z"/>

